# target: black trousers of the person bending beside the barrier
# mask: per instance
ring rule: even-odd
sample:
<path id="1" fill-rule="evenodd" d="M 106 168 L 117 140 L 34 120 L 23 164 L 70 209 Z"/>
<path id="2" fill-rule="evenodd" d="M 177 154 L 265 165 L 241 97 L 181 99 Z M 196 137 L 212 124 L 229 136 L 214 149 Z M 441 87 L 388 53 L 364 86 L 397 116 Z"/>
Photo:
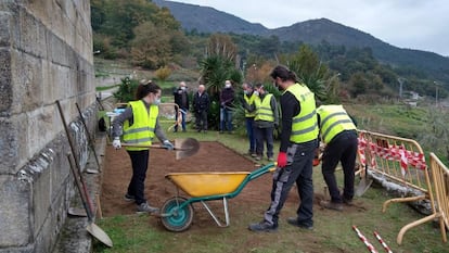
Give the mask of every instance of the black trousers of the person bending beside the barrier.
<path id="1" fill-rule="evenodd" d="M 352 200 L 354 198 L 354 173 L 357 149 L 357 132 L 354 130 L 339 132 L 324 149 L 321 169 L 332 202 L 343 202 L 335 178 L 335 168 L 338 162 L 342 163 L 344 174 L 343 198 L 346 200 Z"/>

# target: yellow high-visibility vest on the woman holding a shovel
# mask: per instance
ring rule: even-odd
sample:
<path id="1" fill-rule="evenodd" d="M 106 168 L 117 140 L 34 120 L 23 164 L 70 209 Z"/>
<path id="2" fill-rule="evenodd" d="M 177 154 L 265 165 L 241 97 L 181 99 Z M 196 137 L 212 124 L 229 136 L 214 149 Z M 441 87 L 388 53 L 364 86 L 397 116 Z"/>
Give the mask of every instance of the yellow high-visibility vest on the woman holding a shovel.
<path id="1" fill-rule="evenodd" d="M 132 107 L 133 123 L 131 126 L 129 121 L 124 123 L 124 142 L 127 144 L 151 146 L 159 107 L 152 104 L 150 110 L 146 110 L 145 103 L 142 100 L 131 101 L 128 105 Z M 126 149 L 147 150 L 149 148 L 126 147 Z"/>

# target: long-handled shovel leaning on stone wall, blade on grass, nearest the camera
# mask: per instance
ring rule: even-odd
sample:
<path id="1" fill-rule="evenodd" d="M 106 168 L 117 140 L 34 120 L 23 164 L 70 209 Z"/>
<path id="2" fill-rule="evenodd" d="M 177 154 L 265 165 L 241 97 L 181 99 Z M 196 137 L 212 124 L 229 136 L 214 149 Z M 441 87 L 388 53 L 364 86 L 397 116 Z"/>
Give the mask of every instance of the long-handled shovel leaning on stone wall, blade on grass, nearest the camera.
<path id="1" fill-rule="evenodd" d="M 68 163 L 70 164 L 70 170 L 74 174 L 75 185 L 78 189 L 79 195 L 81 198 L 82 205 L 85 206 L 86 214 L 88 217 L 88 226 L 86 230 L 92 235 L 92 237 L 97 238 L 99 241 L 104 243 L 107 246 L 113 246 L 113 242 L 111 238 L 107 236 L 106 232 L 103 231 L 99 226 L 93 223 L 93 215 L 92 210 L 89 207 L 87 203 L 87 194 L 88 192 L 84 191 L 84 187 L 81 186 L 80 175 L 78 174 L 77 169 L 75 168 L 74 157 L 70 154 L 67 154 Z"/>

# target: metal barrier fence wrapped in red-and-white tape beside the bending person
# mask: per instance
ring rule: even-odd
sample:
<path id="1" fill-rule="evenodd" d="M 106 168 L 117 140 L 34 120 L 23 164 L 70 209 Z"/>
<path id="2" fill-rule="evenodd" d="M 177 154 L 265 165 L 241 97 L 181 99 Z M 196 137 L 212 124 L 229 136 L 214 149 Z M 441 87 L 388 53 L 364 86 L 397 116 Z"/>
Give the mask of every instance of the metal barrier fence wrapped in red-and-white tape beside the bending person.
<path id="1" fill-rule="evenodd" d="M 416 141 L 359 130 L 359 149 L 361 149 L 359 154 L 363 154 L 359 155 L 359 162 L 361 164 L 367 163 L 367 166 L 361 167 L 361 169 L 364 169 L 362 175 L 365 177 L 370 174 L 380 175 L 387 181 L 393 181 L 406 189 L 402 198 L 385 201 L 382 212 L 385 212 L 390 203 L 429 200 L 435 214 L 428 167 L 425 163 L 424 152 Z M 364 159 L 364 161 L 361 161 L 361 159 Z M 446 201 L 448 200 L 446 199 Z M 408 229 L 429 219 L 432 218 L 425 217 L 402 227 L 397 237 L 398 244 L 401 243 Z"/>

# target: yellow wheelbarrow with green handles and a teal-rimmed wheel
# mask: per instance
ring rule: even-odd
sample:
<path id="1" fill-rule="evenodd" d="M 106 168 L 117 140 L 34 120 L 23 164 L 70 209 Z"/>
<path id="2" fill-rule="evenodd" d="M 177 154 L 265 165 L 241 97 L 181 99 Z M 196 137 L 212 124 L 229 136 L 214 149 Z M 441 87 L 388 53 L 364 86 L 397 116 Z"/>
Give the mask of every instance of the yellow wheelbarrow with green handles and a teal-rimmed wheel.
<path id="1" fill-rule="evenodd" d="M 228 199 L 238 195 L 251 180 L 269 172 L 274 172 L 275 163 L 270 163 L 253 172 L 229 173 L 170 173 L 165 178 L 177 187 L 177 195 L 168 199 L 161 208 L 159 217 L 163 226 L 174 232 L 190 228 L 193 222 L 193 203 L 200 202 L 207 210 L 219 227 L 229 226 Z M 182 190 L 190 199 L 179 195 Z M 224 223 L 220 222 L 207 201 L 222 200 Z"/>

